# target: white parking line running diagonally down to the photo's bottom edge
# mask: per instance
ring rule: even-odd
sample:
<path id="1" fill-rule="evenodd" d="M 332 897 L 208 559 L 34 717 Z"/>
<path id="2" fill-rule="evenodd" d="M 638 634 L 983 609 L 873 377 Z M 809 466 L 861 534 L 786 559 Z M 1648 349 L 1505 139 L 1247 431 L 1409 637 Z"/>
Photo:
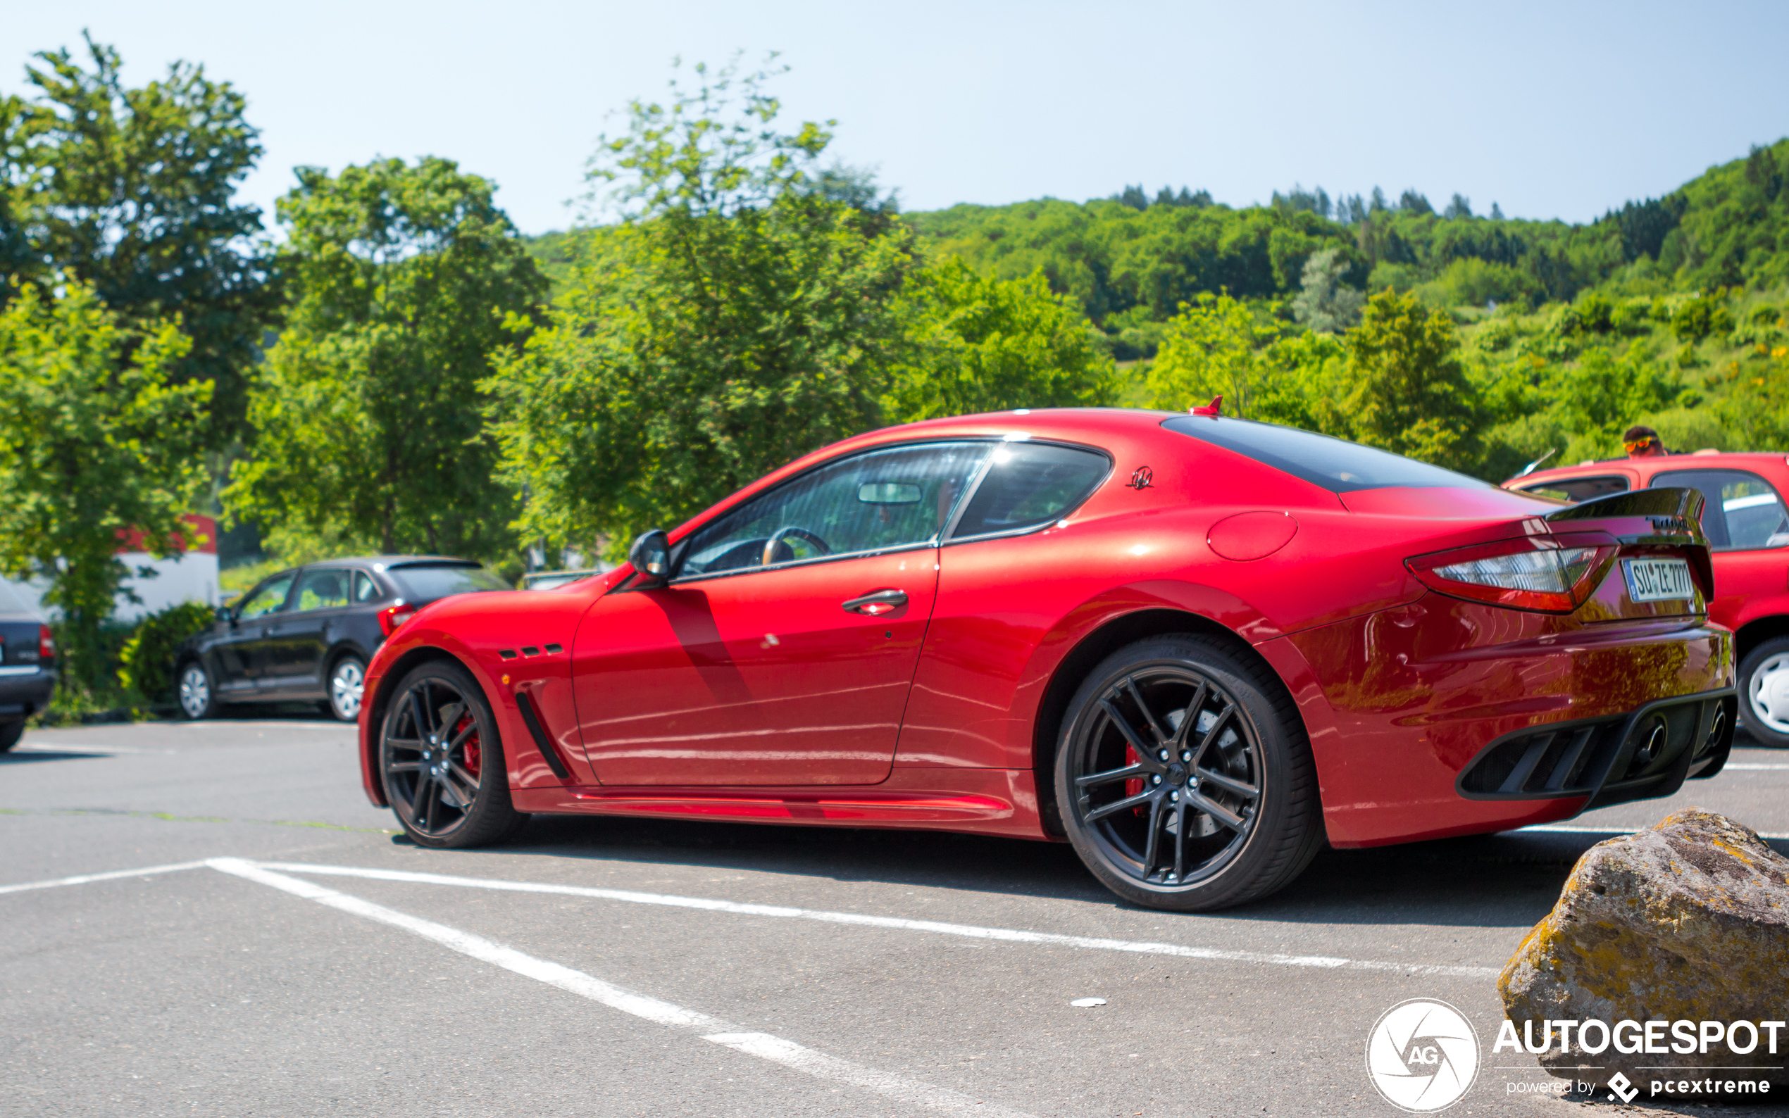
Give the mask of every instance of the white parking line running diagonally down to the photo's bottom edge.
<path id="1" fill-rule="evenodd" d="M 408 912 L 386 909 L 385 905 L 376 905 L 358 896 L 336 893 L 335 889 L 324 889 L 322 885 L 315 885 L 295 877 L 272 873 L 263 868 L 265 864 L 249 862 L 245 859 L 211 859 L 206 864 L 213 869 L 222 869 L 224 873 L 233 873 L 250 882 L 272 885 L 274 889 L 281 889 L 304 900 L 313 900 L 320 905 L 329 905 L 331 909 L 338 909 L 352 916 L 363 916 L 394 928 L 403 928 L 404 932 L 438 943 L 449 950 L 460 952 L 462 955 L 471 955 L 472 959 L 501 966 L 503 970 L 535 978 L 537 982 L 556 986 L 581 998 L 590 998 L 592 1002 L 644 1018 L 657 1025 L 696 1032 L 705 1041 L 723 1045 L 748 1055 L 757 1055 L 759 1059 L 782 1064 L 794 1071 L 803 1071 L 816 1079 L 846 1082 L 855 1088 L 864 1088 L 900 1102 L 921 1105 L 930 1111 L 943 1111 L 946 1114 L 1029 1118 L 1022 1111 L 993 1105 L 970 1095 L 962 1095 L 961 1091 L 936 1088 L 928 1082 L 903 1079 L 900 1075 L 878 1071 L 864 1064 L 853 1064 L 852 1061 L 837 1059 L 823 1052 L 814 1052 L 812 1048 L 803 1048 L 794 1041 L 785 1041 L 780 1036 L 771 1036 L 767 1032 L 742 1032 L 721 1018 L 712 1018 L 694 1009 L 683 1009 L 682 1005 L 637 995 L 630 989 L 594 978 L 583 971 L 574 971 L 569 966 L 560 966 L 558 962 L 549 962 L 546 959 L 535 959 L 533 955 L 526 955 L 515 948 L 492 943 L 483 936 L 472 936 L 471 932 L 420 919 L 417 916 L 410 916 Z"/>

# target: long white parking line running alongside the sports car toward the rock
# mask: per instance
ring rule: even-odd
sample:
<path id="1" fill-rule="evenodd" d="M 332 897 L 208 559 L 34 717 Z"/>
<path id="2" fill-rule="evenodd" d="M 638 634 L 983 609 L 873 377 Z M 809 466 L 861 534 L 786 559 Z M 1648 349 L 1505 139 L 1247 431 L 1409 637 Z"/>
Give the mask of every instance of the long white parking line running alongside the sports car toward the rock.
<path id="1" fill-rule="evenodd" d="M 962 936 L 968 939 L 998 939 L 1004 943 L 1047 943 L 1054 946 L 1072 946 L 1095 952 L 1132 952 L 1143 955 L 1174 955 L 1179 959 L 1213 959 L 1220 962 L 1261 962 L 1268 966 L 1315 966 L 1324 970 L 1394 971 L 1401 975 L 1456 975 L 1469 978 L 1487 978 L 1487 977 L 1494 978 L 1499 973 L 1503 973 L 1501 968 L 1494 966 L 1433 966 L 1419 962 L 1336 959 L 1333 955 L 1279 955 L 1268 952 L 1233 952 L 1220 948 L 1183 946 L 1177 943 L 1140 943 L 1131 939 L 1098 939 L 1093 936 L 1063 936 L 1057 932 L 982 928 L 975 925 L 939 923 L 936 919 L 866 916 L 862 912 L 827 912 L 821 909 L 787 909 L 782 905 L 753 905 L 730 900 L 710 900 L 705 896 L 671 896 L 666 893 L 630 893 L 626 889 L 594 889 L 589 885 L 547 885 L 538 882 L 504 882 L 481 877 L 447 877 L 442 873 L 413 873 L 408 869 L 361 869 L 358 866 L 317 866 L 309 862 L 256 862 L 256 866 L 263 866 L 267 869 L 281 869 L 286 873 L 358 877 L 381 882 L 411 882 L 419 885 L 456 885 L 462 889 L 504 889 L 512 893 L 551 893 L 558 896 L 589 896 L 592 900 L 615 900 L 635 905 L 669 905 L 674 909 L 701 909 L 705 912 L 728 912 L 733 916 L 816 919 L 821 923 L 835 923 L 835 925 L 896 928 L 903 932 L 932 932 L 939 936 Z"/>

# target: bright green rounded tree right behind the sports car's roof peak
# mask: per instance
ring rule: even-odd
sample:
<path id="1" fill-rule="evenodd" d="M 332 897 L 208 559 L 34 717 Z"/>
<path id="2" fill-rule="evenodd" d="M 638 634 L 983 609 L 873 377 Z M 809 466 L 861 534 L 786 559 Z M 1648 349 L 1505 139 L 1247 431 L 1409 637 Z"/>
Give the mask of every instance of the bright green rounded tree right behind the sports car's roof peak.
<path id="1" fill-rule="evenodd" d="M 948 258 L 909 283 L 918 351 L 884 401 L 887 422 L 1111 402 L 1111 358 L 1043 272 L 982 279 Z"/>

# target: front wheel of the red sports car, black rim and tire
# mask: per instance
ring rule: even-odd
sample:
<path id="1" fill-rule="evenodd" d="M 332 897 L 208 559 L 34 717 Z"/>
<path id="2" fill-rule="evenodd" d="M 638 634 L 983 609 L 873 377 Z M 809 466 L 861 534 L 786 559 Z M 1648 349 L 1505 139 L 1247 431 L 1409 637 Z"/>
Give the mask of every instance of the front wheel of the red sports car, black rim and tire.
<path id="1" fill-rule="evenodd" d="M 458 664 L 420 664 L 392 689 L 379 726 L 379 773 L 397 823 L 417 846 L 485 846 L 524 819 L 510 803 L 497 719 Z"/>

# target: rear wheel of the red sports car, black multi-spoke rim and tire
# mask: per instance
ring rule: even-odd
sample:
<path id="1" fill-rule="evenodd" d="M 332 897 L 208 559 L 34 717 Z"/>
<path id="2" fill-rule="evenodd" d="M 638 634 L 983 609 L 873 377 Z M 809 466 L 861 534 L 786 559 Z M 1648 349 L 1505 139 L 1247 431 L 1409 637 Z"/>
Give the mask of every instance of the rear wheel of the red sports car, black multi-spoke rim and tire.
<path id="1" fill-rule="evenodd" d="M 1292 696 L 1204 635 L 1140 640 L 1093 669 L 1063 717 L 1056 798 L 1093 877 L 1150 909 L 1263 898 L 1324 841 Z"/>

